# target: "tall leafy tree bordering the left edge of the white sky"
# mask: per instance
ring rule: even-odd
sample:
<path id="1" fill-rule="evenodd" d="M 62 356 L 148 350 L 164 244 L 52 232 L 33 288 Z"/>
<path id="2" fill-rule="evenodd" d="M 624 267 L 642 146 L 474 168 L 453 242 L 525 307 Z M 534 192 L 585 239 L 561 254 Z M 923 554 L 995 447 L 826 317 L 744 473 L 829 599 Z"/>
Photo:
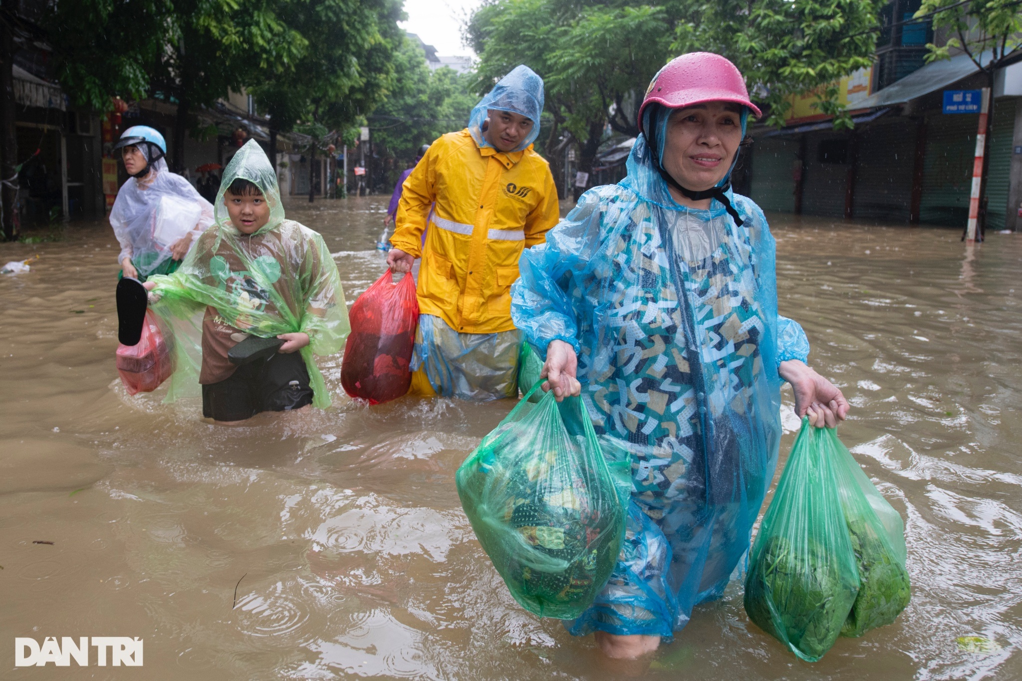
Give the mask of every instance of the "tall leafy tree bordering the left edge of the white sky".
<path id="1" fill-rule="evenodd" d="M 261 68 L 248 83 L 270 115 L 271 134 L 294 130 L 343 132 L 372 112 L 392 80 L 403 39 L 400 0 L 280 0 L 280 16 L 307 47 L 286 68 Z M 320 145 L 311 136 L 315 159 Z M 274 149 L 274 156 L 276 150 Z M 309 167 L 310 181 L 313 167 Z M 314 190 L 310 182 L 309 200 Z"/>

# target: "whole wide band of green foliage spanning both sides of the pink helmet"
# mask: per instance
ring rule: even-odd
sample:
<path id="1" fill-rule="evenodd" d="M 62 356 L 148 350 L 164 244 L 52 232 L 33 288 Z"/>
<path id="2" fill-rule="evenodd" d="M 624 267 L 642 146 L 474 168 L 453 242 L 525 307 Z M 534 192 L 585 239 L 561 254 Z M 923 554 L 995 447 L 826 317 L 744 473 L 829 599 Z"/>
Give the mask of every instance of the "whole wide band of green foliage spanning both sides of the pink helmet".
<path id="1" fill-rule="evenodd" d="M 604 124 L 636 135 L 646 86 L 671 57 L 723 54 L 783 125 L 790 96 L 819 91 L 821 112 L 851 119 L 837 81 L 873 62 L 877 16 L 885 0 L 493 0 L 468 27 L 480 61 L 480 92 L 525 63 L 547 86 L 548 137 L 567 130 L 582 143 L 587 169 Z"/>

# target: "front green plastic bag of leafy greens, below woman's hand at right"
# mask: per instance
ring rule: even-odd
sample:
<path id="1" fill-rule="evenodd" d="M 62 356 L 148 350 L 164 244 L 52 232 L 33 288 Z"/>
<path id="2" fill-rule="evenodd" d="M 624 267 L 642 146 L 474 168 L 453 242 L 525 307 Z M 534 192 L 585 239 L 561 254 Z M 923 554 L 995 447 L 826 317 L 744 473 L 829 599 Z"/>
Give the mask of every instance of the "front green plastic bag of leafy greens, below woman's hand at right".
<path id="1" fill-rule="evenodd" d="M 749 619 L 808 662 L 837 640 L 860 588 L 831 450 L 827 429 L 802 419 L 745 578 Z"/>

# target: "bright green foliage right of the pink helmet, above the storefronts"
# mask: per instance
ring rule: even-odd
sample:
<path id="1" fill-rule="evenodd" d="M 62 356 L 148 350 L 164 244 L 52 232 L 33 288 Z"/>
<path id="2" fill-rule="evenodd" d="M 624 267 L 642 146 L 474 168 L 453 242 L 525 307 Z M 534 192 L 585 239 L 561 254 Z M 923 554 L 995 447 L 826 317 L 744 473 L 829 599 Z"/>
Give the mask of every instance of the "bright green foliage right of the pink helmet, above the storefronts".
<path id="1" fill-rule="evenodd" d="M 735 62 L 766 123 L 784 125 L 790 96 L 820 89 L 822 113 L 851 127 L 834 85 L 870 66 L 886 0 L 688 0 L 678 52 L 717 52 Z"/>

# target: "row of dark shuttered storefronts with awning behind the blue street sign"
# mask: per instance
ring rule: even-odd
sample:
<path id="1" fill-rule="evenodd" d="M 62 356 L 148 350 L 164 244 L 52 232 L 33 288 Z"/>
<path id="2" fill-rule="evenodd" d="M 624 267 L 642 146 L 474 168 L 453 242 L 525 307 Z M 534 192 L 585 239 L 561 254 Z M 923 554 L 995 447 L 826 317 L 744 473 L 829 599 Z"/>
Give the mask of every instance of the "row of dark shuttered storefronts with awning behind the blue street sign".
<path id="1" fill-rule="evenodd" d="M 1022 150 L 1016 140 L 1022 63 L 1003 70 L 988 150 L 987 230 L 1015 229 L 1022 198 L 1022 163 L 1013 162 Z M 753 130 L 752 199 L 765 210 L 964 228 L 979 114 L 944 113 L 942 100 L 944 90 L 981 88 L 977 71 L 965 55 L 924 66 L 850 103 L 850 131 L 826 119 Z"/>

